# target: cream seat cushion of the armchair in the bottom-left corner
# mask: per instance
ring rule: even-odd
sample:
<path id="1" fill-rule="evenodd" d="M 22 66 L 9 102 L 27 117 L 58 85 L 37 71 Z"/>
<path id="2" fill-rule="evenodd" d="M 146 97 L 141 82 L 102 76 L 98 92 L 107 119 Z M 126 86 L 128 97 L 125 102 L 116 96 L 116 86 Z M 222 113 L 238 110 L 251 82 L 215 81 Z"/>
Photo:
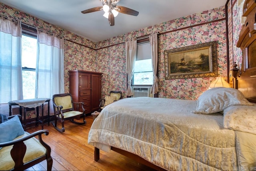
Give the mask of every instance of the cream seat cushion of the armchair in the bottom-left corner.
<path id="1" fill-rule="evenodd" d="M 29 135 L 28 132 L 24 132 L 23 135 L 17 137 L 16 139 L 22 138 L 26 135 Z M 23 163 L 26 164 L 29 161 L 42 157 L 46 154 L 46 149 L 40 144 L 36 138 L 30 138 L 24 141 L 27 150 L 23 159 Z M 3 147 L 0 149 L 0 170 L 10 170 L 14 168 L 14 161 L 12 160 L 10 151 L 13 145 Z"/>

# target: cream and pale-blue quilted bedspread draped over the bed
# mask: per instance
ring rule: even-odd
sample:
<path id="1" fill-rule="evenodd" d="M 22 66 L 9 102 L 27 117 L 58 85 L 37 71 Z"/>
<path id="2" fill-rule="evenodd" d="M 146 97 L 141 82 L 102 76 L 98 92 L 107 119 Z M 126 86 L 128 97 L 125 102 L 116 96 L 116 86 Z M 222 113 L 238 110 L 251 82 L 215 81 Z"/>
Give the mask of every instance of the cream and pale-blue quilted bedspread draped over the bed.
<path id="1" fill-rule="evenodd" d="M 195 100 L 121 99 L 101 111 L 88 143 L 129 151 L 166 170 L 234 170 L 234 131 L 223 127 L 222 114 L 195 114 L 195 108 Z"/>

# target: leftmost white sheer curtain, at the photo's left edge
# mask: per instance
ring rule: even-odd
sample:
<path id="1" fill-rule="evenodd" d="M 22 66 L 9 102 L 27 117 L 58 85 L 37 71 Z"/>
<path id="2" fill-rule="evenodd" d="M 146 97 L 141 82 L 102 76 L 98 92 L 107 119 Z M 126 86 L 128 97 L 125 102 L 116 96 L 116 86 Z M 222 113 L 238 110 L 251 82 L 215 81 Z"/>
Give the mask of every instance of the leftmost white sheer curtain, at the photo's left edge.
<path id="1" fill-rule="evenodd" d="M 20 21 L 0 16 L 0 103 L 23 99 Z"/>

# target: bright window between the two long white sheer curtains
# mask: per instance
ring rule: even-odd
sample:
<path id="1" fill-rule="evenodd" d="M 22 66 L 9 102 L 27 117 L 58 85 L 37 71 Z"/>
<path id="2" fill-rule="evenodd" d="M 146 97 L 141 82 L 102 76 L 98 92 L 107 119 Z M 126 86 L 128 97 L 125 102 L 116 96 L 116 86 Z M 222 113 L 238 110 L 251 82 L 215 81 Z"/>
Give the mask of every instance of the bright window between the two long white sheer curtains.
<path id="1" fill-rule="evenodd" d="M 23 98 L 35 98 L 36 87 L 36 29 L 22 25 L 22 86 Z"/>

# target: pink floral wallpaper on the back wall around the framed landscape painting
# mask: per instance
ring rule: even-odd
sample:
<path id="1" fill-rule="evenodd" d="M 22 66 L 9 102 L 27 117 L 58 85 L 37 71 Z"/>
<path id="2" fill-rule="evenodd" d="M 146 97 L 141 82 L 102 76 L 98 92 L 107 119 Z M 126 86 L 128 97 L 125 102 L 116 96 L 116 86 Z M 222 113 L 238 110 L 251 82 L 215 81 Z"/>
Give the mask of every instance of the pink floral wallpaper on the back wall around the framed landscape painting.
<path id="1" fill-rule="evenodd" d="M 99 72 L 104 73 L 104 78 L 102 79 L 102 83 L 104 84 L 103 95 L 106 95 L 112 89 L 120 89 L 124 92 L 125 95 L 125 52 L 124 44 L 120 45 L 120 43 L 124 42 L 125 38 L 127 37 L 140 37 L 157 31 L 159 32 L 159 97 L 197 99 L 197 97 L 203 91 L 208 89 L 208 86 L 215 78 L 165 80 L 164 50 L 217 41 L 218 75 L 226 77 L 228 72 L 226 56 L 226 22 L 225 20 L 221 19 L 225 19 L 224 7 L 204 11 L 202 13 L 193 14 L 190 16 L 185 16 L 176 20 L 171 20 L 162 24 L 150 26 L 148 28 L 142 28 L 134 32 L 130 32 L 108 40 L 104 40 L 102 42 L 98 42 L 97 48 L 103 48 L 101 50 L 97 50 L 97 61 L 101 61 L 102 63 L 102 66 L 99 66 L 99 64 L 97 66 Z M 217 21 L 215 22 L 214 20 Z M 109 44 L 118 45 L 104 48 L 109 46 Z M 106 58 L 106 56 L 108 56 L 108 58 Z M 117 61 L 116 58 L 119 58 L 117 63 L 115 63 Z M 115 62 L 113 62 L 112 59 L 114 59 Z M 121 68 L 116 70 L 116 65 L 119 65 L 119 67 Z M 124 70 L 122 70 L 122 68 Z M 122 80 L 122 84 L 116 84 L 116 80 Z"/>

